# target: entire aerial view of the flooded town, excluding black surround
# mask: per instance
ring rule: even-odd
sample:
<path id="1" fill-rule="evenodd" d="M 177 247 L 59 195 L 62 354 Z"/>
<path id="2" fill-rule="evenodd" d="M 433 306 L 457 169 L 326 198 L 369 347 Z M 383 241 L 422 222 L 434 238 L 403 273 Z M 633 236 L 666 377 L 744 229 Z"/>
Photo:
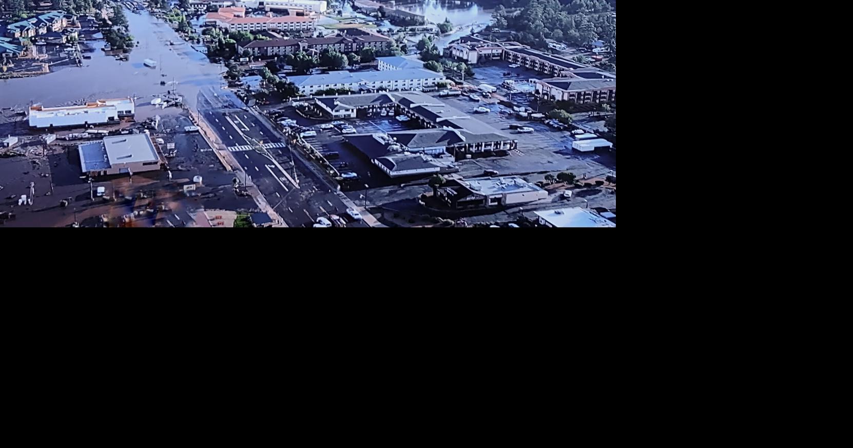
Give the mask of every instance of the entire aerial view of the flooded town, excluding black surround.
<path id="1" fill-rule="evenodd" d="M 616 145 L 616 0 L 0 0 L 0 228 L 612 228 Z"/>

